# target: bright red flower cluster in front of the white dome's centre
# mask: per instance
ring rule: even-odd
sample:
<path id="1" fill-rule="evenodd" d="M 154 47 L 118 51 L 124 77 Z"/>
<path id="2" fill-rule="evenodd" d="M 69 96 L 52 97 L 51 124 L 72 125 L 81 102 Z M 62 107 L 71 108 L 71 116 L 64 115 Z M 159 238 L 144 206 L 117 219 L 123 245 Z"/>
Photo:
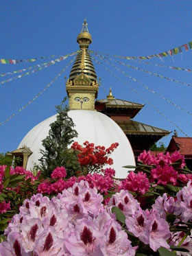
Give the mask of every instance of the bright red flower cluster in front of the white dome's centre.
<path id="1" fill-rule="evenodd" d="M 95 146 L 93 143 L 85 141 L 83 143 L 84 147 L 80 146 L 79 143 L 74 142 L 71 148 L 73 150 L 80 151 L 77 155 L 80 165 L 96 165 L 97 167 L 102 167 L 103 165 L 112 165 L 113 161 L 109 154 L 111 154 L 119 143 L 112 143 L 109 148 L 104 146 Z"/>

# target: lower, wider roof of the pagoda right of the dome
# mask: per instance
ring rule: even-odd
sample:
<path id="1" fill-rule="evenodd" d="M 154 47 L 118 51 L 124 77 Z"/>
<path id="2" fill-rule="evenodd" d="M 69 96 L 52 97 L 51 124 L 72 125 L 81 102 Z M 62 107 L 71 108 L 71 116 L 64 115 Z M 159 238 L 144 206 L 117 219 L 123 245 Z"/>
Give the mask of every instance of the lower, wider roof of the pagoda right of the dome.
<path id="1" fill-rule="evenodd" d="M 116 120 L 115 120 L 116 121 Z M 126 135 L 169 135 L 168 130 L 164 130 L 155 126 L 149 126 L 148 124 L 140 123 L 139 121 L 132 120 L 117 120 L 116 123 L 121 127 Z"/>

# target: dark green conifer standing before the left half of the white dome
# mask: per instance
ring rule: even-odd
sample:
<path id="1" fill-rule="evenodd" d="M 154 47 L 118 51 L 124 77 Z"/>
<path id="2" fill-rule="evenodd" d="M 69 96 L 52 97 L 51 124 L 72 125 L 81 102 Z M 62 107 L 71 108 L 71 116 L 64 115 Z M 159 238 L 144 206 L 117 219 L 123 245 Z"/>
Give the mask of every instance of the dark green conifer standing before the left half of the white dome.
<path id="1" fill-rule="evenodd" d="M 43 139 L 44 150 L 40 150 L 43 155 L 39 161 L 38 168 L 42 175 L 50 177 L 52 170 L 58 166 L 64 166 L 67 169 L 67 177 L 73 176 L 80 168 L 77 161 L 77 152 L 68 149 L 77 137 L 74 129 L 74 123 L 71 117 L 67 115 L 68 108 L 64 106 L 66 98 L 57 108 L 57 119 L 50 125 L 49 135 Z"/>

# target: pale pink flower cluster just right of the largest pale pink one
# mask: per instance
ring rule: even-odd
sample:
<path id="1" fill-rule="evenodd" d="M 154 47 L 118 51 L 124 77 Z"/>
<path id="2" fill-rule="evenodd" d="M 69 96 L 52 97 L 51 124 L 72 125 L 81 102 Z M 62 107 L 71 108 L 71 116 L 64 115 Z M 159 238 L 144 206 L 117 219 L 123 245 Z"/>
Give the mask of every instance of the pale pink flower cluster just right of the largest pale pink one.
<path id="1" fill-rule="evenodd" d="M 119 207 L 126 217 L 128 231 L 144 244 L 149 244 L 153 251 L 157 251 L 160 246 L 169 248 L 166 241 L 170 236 L 169 224 L 156 209 L 143 211 L 139 202 L 125 190 L 113 195 L 108 206 Z"/>

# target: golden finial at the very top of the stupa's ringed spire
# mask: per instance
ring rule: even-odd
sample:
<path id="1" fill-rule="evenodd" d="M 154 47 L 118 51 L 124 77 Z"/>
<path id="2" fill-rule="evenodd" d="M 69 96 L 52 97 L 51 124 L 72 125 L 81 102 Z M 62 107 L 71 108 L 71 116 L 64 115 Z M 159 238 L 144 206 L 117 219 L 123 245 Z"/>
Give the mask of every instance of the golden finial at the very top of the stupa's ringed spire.
<path id="1" fill-rule="evenodd" d="M 80 44 L 80 48 L 88 48 L 88 45 L 92 43 L 91 34 L 88 32 L 87 22 L 86 19 L 84 19 L 82 31 L 77 36 L 77 43 Z"/>

